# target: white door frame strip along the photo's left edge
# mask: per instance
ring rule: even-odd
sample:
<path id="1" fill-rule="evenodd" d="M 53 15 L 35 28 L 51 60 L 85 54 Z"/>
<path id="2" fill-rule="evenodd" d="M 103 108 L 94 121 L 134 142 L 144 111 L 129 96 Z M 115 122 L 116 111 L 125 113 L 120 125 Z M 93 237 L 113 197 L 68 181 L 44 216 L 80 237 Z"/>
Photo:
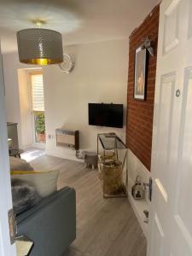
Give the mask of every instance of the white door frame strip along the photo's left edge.
<path id="1" fill-rule="evenodd" d="M 0 256 L 15 256 L 10 244 L 8 212 L 12 208 L 8 135 L 4 108 L 3 65 L 0 49 Z"/>

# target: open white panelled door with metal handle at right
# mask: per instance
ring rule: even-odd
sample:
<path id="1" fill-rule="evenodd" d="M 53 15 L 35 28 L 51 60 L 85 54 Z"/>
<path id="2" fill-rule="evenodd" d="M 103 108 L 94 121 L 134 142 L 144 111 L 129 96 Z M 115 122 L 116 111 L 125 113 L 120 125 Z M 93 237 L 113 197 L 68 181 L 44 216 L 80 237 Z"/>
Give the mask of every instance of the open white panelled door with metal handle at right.
<path id="1" fill-rule="evenodd" d="M 148 256 L 192 255 L 192 0 L 163 0 Z"/>

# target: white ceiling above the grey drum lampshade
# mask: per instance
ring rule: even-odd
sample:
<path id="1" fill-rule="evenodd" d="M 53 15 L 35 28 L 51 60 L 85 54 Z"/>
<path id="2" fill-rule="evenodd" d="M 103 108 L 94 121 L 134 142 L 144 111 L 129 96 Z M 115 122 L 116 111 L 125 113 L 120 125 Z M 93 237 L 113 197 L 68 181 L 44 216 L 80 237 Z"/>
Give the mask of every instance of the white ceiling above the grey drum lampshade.
<path id="1" fill-rule="evenodd" d="M 3 52 L 17 50 L 16 32 L 47 20 L 64 44 L 128 38 L 160 0 L 0 0 Z"/>

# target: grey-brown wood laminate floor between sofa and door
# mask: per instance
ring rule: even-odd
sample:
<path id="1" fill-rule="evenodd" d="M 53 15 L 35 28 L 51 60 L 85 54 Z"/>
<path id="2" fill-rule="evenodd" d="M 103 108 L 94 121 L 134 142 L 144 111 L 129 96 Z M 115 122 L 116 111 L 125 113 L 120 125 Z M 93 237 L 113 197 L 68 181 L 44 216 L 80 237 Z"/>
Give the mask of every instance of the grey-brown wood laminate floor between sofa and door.
<path id="1" fill-rule="evenodd" d="M 146 239 L 128 199 L 103 199 L 96 170 L 44 154 L 31 164 L 36 170 L 59 169 L 58 188 L 76 189 L 77 239 L 64 256 L 146 255 Z"/>

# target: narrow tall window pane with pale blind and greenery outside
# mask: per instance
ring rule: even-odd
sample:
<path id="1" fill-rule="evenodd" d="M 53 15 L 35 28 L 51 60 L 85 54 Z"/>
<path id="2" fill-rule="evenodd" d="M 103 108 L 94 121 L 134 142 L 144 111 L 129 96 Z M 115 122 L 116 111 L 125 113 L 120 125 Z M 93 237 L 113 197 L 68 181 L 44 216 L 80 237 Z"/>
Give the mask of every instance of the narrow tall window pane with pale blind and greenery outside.
<path id="1" fill-rule="evenodd" d="M 35 143 L 45 143 L 44 81 L 41 72 L 30 73 Z"/>

